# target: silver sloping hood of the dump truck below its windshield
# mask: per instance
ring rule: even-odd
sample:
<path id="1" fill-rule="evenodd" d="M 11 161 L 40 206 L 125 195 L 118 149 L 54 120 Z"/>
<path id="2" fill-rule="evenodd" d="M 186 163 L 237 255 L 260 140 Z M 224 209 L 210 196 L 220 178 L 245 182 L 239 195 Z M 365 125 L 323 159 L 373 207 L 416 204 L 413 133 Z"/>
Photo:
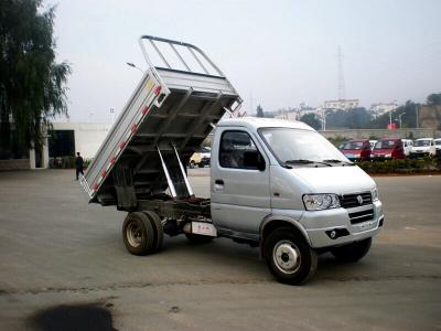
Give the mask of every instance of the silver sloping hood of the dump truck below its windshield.
<path id="1" fill-rule="evenodd" d="M 294 168 L 290 171 L 310 186 L 311 193 L 348 194 L 376 186 L 374 180 L 356 166 Z"/>

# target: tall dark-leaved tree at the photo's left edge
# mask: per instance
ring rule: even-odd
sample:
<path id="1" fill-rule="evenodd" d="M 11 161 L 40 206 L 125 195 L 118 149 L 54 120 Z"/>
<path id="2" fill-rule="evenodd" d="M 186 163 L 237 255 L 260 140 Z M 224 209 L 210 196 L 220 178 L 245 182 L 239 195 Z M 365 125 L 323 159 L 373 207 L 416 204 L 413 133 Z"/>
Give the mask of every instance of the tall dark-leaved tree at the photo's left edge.
<path id="1" fill-rule="evenodd" d="M 67 115 L 71 66 L 55 63 L 55 7 L 0 0 L 0 148 L 40 148 L 42 127 Z"/>

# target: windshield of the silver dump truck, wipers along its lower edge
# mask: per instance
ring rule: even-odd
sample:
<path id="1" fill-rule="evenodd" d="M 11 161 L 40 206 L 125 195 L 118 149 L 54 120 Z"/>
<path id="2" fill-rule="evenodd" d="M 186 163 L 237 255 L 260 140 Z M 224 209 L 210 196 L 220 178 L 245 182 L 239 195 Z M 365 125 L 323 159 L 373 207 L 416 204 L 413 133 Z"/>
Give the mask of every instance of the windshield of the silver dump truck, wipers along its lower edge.
<path id="1" fill-rule="evenodd" d="M 308 162 L 349 162 L 330 141 L 316 131 L 291 128 L 262 128 L 260 136 L 282 163 L 304 167 Z M 326 166 L 326 164 L 322 164 Z M 329 166 L 329 164 L 327 164 Z"/>

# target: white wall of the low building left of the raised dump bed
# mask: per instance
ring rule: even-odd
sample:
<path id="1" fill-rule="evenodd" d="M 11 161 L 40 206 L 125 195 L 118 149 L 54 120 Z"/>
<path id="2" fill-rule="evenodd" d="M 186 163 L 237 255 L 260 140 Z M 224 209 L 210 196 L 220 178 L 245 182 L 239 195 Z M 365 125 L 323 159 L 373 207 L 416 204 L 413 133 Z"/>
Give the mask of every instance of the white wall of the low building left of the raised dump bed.
<path id="1" fill-rule="evenodd" d="M 54 130 L 74 130 L 75 154 L 80 152 L 83 158 L 95 157 L 101 142 L 110 130 L 110 124 L 104 122 L 54 122 Z"/>

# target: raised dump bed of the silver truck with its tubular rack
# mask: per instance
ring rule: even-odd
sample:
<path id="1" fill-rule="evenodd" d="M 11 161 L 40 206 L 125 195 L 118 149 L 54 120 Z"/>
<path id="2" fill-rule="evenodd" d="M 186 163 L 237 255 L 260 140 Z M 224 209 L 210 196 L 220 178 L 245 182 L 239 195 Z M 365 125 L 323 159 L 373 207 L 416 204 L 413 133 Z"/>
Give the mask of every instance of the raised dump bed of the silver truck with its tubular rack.
<path id="1" fill-rule="evenodd" d="M 193 192 L 184 166 L 240 97 L 194 45 L 143 35 L 149 68 L 110 129 L 80 183 L 90 202 L 133 210 L 139 200 Z M 153 65 L 153 55 L 163 66 Z"/>

